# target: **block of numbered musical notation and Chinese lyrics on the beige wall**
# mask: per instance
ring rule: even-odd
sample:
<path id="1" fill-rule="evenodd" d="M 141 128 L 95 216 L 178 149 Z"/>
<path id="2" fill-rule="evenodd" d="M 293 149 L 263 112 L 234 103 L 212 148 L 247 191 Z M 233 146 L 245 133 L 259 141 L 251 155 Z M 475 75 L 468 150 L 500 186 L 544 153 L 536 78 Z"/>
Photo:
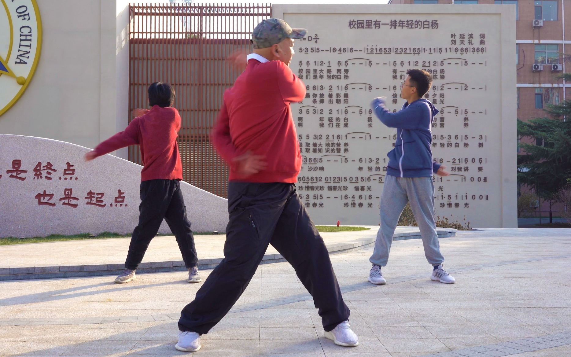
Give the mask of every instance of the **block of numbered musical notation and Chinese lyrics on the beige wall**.
<path id="1" fill-rule="evenodd" d="M 296 23 L 308 20 L 304 16 L 291 15 Z M 295 43 L 291 69 L 307 90 L 303 101 L 292 104 L 303 158 L 300 199 L 320 222 L 343 215 L 348 224 L 378 223 L 396 129 L 384 126 L 370 103 L 385 97 L 389 110 L 399 111 L 405 103 L 400 84 L 416 68 L 432 75 L 424 96 L 439 109 L 431 149 L 434 161 L 451 173 L 433 178 L 437 214 L 469 221 L 477 210 L 500 206 L 498 32 L 481 18 L 435 18 L 419 19 L 415 37 L 415 22 L 400 27 L 398 20 L 394 27 L 382 16 L 370 32 L 366 19 L 358 29 L 335 25 L 354 15 L 316 17 L 305 26 L 311 41 Z M 418 27 L 424 21 L 437 26 Z"/>

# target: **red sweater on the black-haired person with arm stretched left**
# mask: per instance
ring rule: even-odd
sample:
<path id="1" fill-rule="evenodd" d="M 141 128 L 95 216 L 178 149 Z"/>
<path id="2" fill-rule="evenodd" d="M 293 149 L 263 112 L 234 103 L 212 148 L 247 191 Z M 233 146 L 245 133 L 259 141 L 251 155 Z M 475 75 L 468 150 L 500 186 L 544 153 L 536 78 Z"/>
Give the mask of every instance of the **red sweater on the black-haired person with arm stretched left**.
<path id="1" fill-rule="evenodd" d="M 146 114 L 133 119 L 124 131 L 99 143 L 95 151 L 101 156 L 139 144 L 144 166 L 141 181 L 182 180 L 182 163 L 176 142 L 179 130 L 178 110 L 155 105 Z"/>

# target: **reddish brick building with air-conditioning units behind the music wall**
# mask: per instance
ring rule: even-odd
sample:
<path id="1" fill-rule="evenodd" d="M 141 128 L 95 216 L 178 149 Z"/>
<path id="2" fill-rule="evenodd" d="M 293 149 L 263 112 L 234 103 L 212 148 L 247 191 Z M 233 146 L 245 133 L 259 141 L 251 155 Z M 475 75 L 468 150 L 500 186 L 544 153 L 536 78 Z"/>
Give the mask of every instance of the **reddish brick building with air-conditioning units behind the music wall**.
<path id="1" fill-rule="evenodd" d="M 571 65 L 565 63 L 563 56 L 571 53 L 571 0 L 390 0 L 389 3 L 514 5 L 517 118 L 528 121 L 545 117 L 542 110 L 545 104 L 557 104 L 571 98 L 571 83 L 556 78 L 557 74 L 565 72 L 566 65 Z M 561 209 L 564 209 L 561 204 L 553 204 L 553 215 Z M 536 211 L 538 216 L 539 210 Z M 541 215 L 549 215 L 549 202 L 542 202 Z"/>

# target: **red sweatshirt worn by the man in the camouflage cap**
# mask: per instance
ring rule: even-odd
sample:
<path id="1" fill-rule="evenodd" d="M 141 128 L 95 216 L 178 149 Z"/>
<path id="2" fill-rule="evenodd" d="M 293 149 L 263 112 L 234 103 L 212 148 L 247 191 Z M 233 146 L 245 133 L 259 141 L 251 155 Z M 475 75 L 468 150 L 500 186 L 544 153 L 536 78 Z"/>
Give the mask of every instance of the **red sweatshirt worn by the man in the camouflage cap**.
<path id="1" fill-rule="evenodd" d="M 230 180 L 297 182 L 301 154 L 289 103 L 305 97 L 305 85 L 281 61 L 250 59 L 224 103 L 212 131 L 212 142 L 230 165 Z M 252 151 L 265 155 L 266 170 L 240 177 L 232 161 Z"/>

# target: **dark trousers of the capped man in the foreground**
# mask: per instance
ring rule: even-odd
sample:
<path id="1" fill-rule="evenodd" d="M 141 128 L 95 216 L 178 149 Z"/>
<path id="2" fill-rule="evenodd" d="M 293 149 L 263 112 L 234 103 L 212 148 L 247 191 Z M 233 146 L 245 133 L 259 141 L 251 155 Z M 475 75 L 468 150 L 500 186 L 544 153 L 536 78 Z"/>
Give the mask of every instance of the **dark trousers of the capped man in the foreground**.
<path id="1" fill-rule="evenodd" d="M 313 296 L 325 331 L 349 318 L 327 248 L 295 184 L 230 182 L 228 212 L 224 259 L 182 310 L 180 331 L 210 331 L 240 298 L 268 244 L 286 258 Z"/>

